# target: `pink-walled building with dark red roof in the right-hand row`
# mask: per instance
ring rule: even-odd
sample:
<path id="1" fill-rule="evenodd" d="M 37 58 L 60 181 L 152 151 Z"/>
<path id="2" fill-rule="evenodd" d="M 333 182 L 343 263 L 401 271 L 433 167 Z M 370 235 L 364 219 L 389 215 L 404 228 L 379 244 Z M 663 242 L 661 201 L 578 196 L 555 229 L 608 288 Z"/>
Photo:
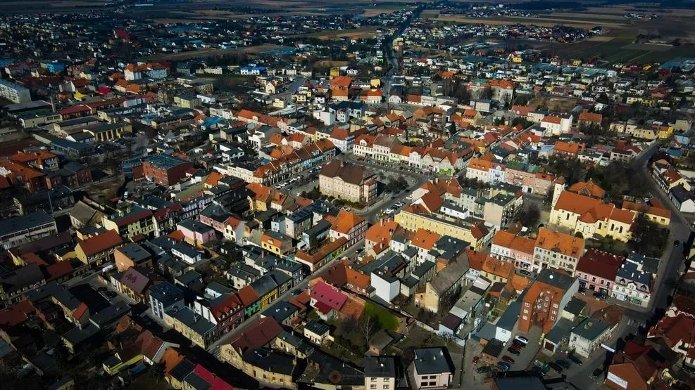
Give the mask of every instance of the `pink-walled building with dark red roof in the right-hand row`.
<path id="1" fill-rule="evenodd" d="M 589 249 L 577 262 L 575 276 L 580 280 L 580 289 L 583 287 L 593 292 L 601 292 L 606 296 L 611 294 L 611 288 L 615 281 L 615 274 L 625 257 L 616 254 Z"/>

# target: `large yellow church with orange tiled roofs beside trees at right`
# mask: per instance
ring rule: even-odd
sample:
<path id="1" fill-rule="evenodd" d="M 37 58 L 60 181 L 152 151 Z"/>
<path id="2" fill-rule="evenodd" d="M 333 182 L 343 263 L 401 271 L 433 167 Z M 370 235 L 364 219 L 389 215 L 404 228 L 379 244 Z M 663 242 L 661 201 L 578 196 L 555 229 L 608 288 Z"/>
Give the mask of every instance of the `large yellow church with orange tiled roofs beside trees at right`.
<path id="1" fill-rule="evenodd" d="M 581 233 L 584 238 L 596 235 L 627 242 L 634 221 L 630 210 L 618 209 L 613 203 L 604 203 L 570 191 L 563 191 L 550 214 L 550 222 Z"/>

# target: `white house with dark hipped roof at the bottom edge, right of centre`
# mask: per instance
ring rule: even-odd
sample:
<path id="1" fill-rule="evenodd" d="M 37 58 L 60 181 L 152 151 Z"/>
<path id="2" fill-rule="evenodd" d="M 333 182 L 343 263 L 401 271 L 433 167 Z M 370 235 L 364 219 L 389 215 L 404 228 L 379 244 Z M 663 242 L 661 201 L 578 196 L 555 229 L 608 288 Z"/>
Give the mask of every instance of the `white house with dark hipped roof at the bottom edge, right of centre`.
<path id="1" fill-rule="evenodd" d="M 418 348 L 414 352 L 415 389 L 446 389 L 451 385 L 455 368 L 446 348 Z"/>

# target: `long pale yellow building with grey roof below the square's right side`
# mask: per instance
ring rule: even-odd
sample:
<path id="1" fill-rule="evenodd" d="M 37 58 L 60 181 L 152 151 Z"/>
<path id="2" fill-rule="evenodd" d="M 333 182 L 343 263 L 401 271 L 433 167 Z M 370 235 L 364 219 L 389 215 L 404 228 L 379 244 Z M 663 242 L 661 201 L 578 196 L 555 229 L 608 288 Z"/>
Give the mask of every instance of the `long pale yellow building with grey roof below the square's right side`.
<path id="1" fill-rule="evenodd" d="M 470 223 L 442 214 L 427 212 L 418 205 L 406 207 L 396 214 L 396 223 L 406 230 L 425 229 L 439 235 L 449 235 L 470 243 L 470 247 L 480 251 L 490 238 L 490 232 L 482 223 Z"/>

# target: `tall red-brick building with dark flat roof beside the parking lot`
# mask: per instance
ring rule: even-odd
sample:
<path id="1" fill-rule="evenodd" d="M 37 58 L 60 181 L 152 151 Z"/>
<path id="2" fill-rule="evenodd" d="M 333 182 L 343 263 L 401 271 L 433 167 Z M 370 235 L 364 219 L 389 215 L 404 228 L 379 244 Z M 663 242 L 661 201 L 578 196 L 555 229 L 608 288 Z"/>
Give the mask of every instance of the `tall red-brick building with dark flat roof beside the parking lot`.
<path id="1" fill-rule="evenodd" d="M 528 333 L 537 325 L 543 334 L 548 334 L 577 291 L 579 279 L 561 270 L 542 269 L 522 299 L 518 330 Z"/>

